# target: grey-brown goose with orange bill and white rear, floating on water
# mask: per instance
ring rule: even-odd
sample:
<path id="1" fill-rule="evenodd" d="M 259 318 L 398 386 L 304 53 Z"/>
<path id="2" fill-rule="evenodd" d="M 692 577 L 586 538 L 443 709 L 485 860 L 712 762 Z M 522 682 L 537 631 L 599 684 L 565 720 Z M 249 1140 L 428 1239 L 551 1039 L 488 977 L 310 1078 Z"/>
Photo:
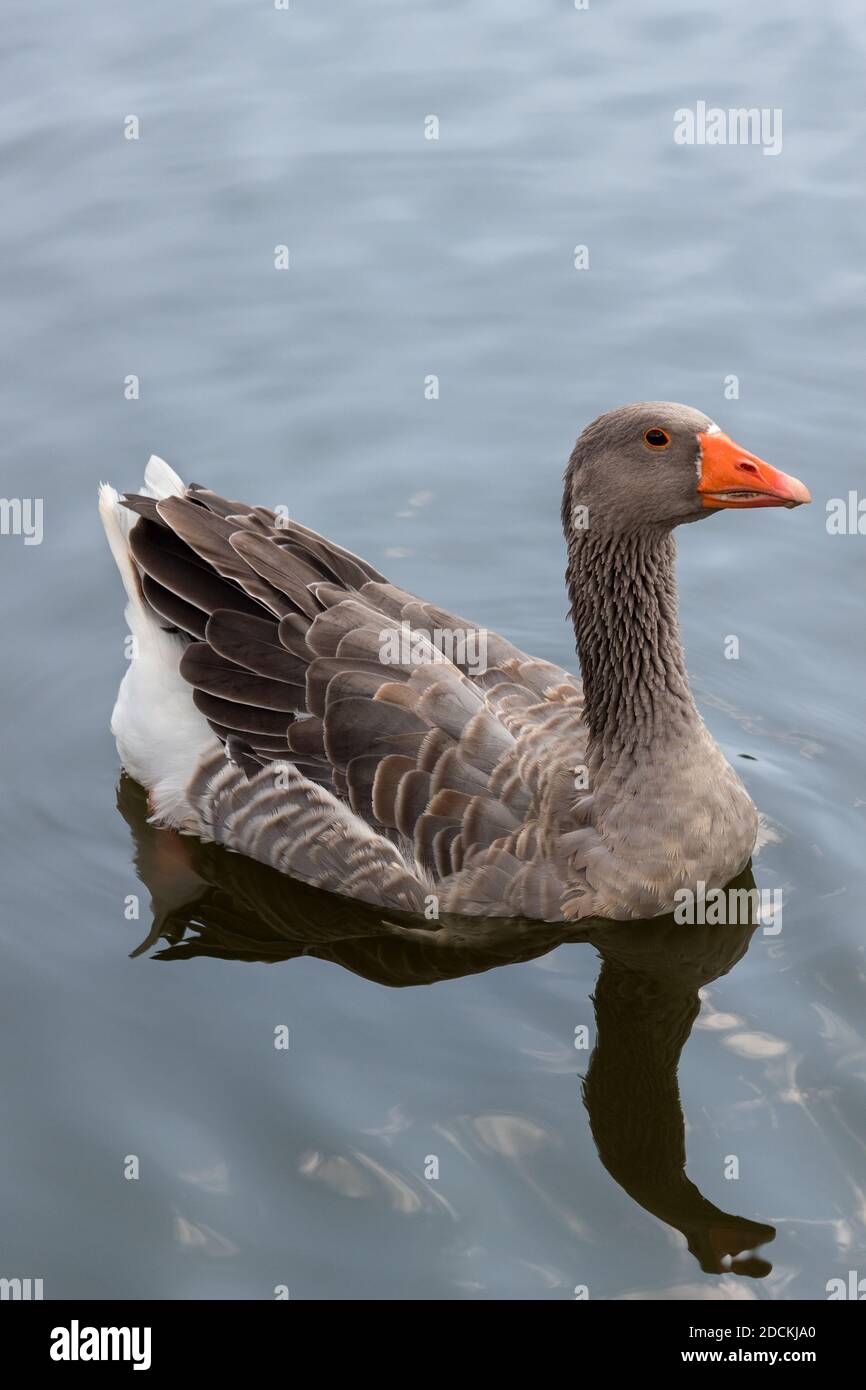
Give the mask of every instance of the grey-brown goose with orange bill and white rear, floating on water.
<path id="1" fill-rule="evenodd" d="M 432 924 L 670 912 L 758 833 L 689 691 L 673 531 L 809 500 L 703 411 L 599 416 L 562 507 L 581 681 L 152 457 L 140 492 L 99 491 L 132 635 L 121 763 L 154 824 Z"/>

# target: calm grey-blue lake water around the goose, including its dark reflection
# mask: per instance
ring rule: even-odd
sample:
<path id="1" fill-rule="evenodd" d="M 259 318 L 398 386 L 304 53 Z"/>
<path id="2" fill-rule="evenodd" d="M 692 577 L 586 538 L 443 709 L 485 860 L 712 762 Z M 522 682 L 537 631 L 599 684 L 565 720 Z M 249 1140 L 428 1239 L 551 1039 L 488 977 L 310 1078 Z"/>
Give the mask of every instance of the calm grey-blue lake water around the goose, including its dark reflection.
<path id="1" fill-rule="evenodd" d="M 47 0 L 6 28 L 1 492 L 44 535 L 0 538 L 0 1275 L 345 1300 L 866 1275 L 866 539 L 826 524 L 863 488 L 862 7 Z M 781 153 L 677 146 L 699 100 L 780 108 Z M 135 787 L 118 809 L 97 482 L 160 453 L 573 664 L 564 460 L 653 398 L 815 498 L 680 541 L 781 929 L 409 948 L 185 841 L 152 931 L 167 837 Z"/>

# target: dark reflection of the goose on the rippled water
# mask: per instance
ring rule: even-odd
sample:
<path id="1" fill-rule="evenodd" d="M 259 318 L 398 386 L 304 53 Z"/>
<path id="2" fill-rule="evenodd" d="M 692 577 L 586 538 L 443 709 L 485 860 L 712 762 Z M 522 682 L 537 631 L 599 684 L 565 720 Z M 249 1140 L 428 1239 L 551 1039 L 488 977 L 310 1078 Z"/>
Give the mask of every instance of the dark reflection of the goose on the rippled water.
<path id="1" fill-rule="evenodd" d="M 752 926 L 676 926 L 670 917 L 601 926 L 446 917 L 436 930 L 403 915 L 352 903 L 218 845 L 147 821 L 143 791 L 122 778 L 118 805 L 136 844 L 136 866 L 154 910 L 136 955 L 160 940 L 164 960 L 211 955 L 289 960 L 314 955 L 386 986 L 432 984 L 530 960 L 564 941 L 602 955 L 595 987 L 596 1045 L 584 1084 L 605 1168 L 646 1211 L 683 1232 L 705 1272 L 727 1255 L 771 1240 L 771 1226 L 721 1212 L 684 1172 L 680 1052 L 698 1013 L 698 990 L 745 954 Z M 751 887 L 751 874 L 737 884 Z M 770 1266 L 740 1259 L 734 1273 Z"/>

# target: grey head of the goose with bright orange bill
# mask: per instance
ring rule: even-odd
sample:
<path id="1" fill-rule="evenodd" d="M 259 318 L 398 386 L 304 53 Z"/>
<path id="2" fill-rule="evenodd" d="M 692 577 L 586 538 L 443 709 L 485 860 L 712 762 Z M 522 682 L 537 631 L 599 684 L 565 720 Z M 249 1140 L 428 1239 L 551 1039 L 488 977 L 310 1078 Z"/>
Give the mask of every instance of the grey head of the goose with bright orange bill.
<path id="1" fill-rule="evenodd" d="M 587 425 L 566 471 L 563 521 L 567 535 L 627 534 L 810 500 L 798 478 L 742 449 L 702 410 L 644 400 Z"/>

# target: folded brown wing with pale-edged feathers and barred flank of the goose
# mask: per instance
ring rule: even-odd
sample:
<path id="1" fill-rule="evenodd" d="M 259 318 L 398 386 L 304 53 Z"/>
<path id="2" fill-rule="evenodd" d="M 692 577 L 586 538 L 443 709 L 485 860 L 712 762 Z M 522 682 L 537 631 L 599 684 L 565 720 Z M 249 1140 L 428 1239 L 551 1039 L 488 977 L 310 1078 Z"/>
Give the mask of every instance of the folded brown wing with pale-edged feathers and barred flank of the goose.
<path id="1" fill-rule="evenodd" d="M 263 507 L 195 485 L 124 502 L 143 598 L 225 749 L 190 790 L 214 838 L 409 910 L 435 891 L 563 915 L 585 739 L 569 673 Z"/>

